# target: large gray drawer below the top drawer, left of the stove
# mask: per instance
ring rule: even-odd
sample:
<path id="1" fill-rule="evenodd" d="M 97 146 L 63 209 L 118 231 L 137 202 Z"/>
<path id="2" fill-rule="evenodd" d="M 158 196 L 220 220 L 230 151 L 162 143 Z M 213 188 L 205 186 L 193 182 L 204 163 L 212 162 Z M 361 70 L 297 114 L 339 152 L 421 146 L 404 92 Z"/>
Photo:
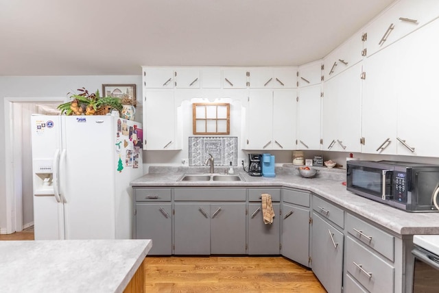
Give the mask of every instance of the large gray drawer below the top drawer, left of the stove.
<path id="1" fill-rule="evenodd" d="M 348 236 L 346 270 L 368 292 L 393 292 L 394 267 Z"/>

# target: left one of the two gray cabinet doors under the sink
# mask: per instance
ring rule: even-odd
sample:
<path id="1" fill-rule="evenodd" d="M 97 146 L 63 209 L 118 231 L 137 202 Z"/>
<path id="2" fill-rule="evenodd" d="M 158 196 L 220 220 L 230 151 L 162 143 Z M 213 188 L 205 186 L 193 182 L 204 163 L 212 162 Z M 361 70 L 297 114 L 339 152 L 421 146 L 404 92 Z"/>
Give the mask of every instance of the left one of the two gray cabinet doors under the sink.
<path id="1" fill-rule="evenodd" d="M 209 204 L 176 203 L 174 209 L 174 253 L 209 255 L 211 253 Z"/>

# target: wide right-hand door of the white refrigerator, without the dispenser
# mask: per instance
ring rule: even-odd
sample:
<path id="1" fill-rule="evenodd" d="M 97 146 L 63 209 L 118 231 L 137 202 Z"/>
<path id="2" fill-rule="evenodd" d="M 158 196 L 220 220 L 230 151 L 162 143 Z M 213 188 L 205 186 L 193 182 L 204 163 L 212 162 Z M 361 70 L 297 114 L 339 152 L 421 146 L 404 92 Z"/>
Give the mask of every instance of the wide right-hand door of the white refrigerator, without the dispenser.
<path id="1" fill-rule="evenodd" d="M 115 118 L 62 118 L 60 194 L 66 239 L 114 239 Z"/>

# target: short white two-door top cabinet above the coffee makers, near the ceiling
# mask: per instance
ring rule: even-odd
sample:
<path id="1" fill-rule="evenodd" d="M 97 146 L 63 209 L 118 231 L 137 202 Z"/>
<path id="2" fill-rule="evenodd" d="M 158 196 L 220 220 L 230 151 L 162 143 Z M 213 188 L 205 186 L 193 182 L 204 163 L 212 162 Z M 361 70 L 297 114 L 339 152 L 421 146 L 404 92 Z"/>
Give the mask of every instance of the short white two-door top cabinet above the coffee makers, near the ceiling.
<path id="1" fill-rule="evenodd" d="M 248 71 L 250 88 L 296 88 L 297 69 L 287 68 L 250 68 Z"/>

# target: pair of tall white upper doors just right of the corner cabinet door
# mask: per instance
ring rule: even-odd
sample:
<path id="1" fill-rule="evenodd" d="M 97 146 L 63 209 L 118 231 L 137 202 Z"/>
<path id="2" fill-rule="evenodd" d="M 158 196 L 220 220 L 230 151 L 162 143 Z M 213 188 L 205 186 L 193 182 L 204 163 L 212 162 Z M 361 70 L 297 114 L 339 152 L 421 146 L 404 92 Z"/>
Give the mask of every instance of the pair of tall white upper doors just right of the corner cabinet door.
<path id="1" fill-rule="evenodd" d="M 361 151 L 361 64 L 324 83 L 323 149 Z"/>

